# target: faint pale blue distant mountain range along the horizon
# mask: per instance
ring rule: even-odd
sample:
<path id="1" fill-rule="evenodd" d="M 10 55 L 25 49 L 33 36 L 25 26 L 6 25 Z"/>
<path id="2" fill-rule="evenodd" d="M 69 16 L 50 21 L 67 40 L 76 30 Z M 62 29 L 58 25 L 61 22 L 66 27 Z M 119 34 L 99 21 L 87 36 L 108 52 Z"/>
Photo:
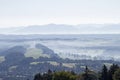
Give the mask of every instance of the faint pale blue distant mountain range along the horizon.
<path id="1" fill-rule="evenodd" d="M 0 34 L 119 34 L 120 24 L 47 24 L 1 28 Z"/>

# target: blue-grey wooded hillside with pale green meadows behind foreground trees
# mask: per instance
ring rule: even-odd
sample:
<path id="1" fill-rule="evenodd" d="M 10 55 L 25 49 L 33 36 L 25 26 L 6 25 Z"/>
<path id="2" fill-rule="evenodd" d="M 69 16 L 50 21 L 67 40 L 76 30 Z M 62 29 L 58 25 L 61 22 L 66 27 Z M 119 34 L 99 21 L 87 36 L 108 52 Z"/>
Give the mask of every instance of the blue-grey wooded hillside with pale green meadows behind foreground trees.
<path id="1" fill-rule="evenodd" d="M 14 46 L 3 50 L 0 55 L 0 73 L 2 75 L 0 77 L 4 80 L 33 79 L 34 74 L 44 73 L 48 69 L 52 71 L 73 70 L 80 73 L 86 65 L 89 65 L 92 70 L 98 71 L 103 64 L 108 67 L 113 63 L 120 64 L 113 60 L 63 59 L 42 44 Z"/>

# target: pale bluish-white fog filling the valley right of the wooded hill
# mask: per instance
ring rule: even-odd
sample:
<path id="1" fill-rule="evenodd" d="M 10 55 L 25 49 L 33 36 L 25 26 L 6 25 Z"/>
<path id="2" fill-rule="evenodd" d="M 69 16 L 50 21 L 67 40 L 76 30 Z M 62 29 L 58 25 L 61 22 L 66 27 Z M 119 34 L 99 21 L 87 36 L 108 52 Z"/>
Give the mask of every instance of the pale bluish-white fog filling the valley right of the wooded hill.
<path id="1" fill-rule="evenodd" d="M 116 51 L 113 50 L 110 55 L 109 50 L 106 48 L 109 47 L 119 47 L 120 43 L 117 43 L 117 40 L 49 40 L 49 41 L 41 41 L 41 44 L 47 46 L 52 49 L 55 53 L 60 54 L 62 58 L 74 58 L 70 57 L 70 54 L 78 54 L 78 55 L 87 55 L 91 57 L 102 58 L 105 53 L 107 53 L 107 57 L 105 59 L 117 58 L 115 56 Z M 106 48 L 105 48 L 106 47 Z M 82 48 L 82 49 L 81 49 Z M 61 55 L 62 54 L 62 55 Z M 101 57 L 100 57 L 101 56 Z M 117 54 L 118 56 L 118 54 Z"/>

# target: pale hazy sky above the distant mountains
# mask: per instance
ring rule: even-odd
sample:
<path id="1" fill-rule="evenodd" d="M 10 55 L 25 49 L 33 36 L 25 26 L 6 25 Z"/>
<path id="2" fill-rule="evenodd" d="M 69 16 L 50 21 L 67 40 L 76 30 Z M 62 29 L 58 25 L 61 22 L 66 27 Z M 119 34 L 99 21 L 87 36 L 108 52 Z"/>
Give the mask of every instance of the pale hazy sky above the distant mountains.
<path id="1" fill-rule="evenodd" d="M 0 27 L 120 23 L 120 0 L 0 0 Z"/>

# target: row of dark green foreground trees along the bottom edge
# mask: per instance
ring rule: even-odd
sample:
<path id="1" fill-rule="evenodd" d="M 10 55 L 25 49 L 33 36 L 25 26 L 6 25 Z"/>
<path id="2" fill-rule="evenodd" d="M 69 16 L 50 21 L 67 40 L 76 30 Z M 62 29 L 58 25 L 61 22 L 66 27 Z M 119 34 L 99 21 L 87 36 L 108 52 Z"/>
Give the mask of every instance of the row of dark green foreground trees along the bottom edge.
<path id="1" fill-rule="evenodd" d="M 52 71 L 37 73 L 34 80 L 120 80 L 120 67 L 112 64 L 109 68 L 103 65 L 99 72 L 85 67 L 84 72 L 76 74 L 74 71 Z"/>

